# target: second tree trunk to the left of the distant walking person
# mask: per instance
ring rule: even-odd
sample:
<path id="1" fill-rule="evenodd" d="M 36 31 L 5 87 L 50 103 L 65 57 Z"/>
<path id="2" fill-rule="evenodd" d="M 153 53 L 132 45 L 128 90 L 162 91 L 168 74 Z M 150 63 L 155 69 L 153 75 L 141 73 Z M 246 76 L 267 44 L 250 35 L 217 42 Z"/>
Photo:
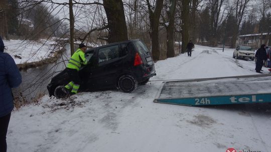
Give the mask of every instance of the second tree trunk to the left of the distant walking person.
<path id="1" fill-rule="evenodd" d="M 168 11 L 169 25 L 167 26 L 167 57 L 174 57 L 174 37 L 175 37 L 175 10 L 177 0 L 171 0 L 170 10 Z"/>

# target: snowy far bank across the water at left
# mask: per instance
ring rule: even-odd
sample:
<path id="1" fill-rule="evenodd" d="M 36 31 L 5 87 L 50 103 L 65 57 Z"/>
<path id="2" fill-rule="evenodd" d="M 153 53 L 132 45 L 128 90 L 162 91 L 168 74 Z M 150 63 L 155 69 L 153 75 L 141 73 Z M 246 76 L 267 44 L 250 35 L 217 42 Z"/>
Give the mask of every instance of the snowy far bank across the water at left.
<path id="1" fill-rule="evenodd" d="M 4 39 L 3 41 L 7 47 L 4 52 L 9 53 L 14 58 L 16 64 L 35 62 L 52 57 L 53 52 L 62 48 L 58 47 L 55 41 L 46 39 L 41 39 L 40 41 Z"/>

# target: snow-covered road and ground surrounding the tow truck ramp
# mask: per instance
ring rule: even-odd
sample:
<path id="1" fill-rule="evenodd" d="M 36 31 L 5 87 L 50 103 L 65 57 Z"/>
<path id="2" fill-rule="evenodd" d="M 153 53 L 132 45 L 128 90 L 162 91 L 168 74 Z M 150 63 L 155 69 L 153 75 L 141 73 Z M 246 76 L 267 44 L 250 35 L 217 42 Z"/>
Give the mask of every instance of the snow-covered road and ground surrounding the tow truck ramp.
<path id="1" fill-rule="evenodd" d="M 12 113 L 8 151 L 271 151 L 271 104 L 153 102 L 162 83 L 154 80 L 256 74 L 253 61 L 232 53 L 196 45 L 192 57 L 158 61 L 157 76 L 133 93 L 81 92 L 65 100 L 45 95 Z"/>

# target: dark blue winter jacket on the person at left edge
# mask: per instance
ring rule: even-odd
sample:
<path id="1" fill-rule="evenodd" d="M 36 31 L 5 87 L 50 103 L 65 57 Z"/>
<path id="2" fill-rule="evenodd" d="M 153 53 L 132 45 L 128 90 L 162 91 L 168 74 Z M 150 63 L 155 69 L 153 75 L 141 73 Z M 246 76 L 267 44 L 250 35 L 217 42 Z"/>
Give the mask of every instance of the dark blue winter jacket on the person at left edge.
<path id="1" fill-rule="evenodd" d="M 21 82 L 21 73 L 12 56 L 0 51 L 0 117 L 13 110 L 11 88 L 19 86 Z"/>

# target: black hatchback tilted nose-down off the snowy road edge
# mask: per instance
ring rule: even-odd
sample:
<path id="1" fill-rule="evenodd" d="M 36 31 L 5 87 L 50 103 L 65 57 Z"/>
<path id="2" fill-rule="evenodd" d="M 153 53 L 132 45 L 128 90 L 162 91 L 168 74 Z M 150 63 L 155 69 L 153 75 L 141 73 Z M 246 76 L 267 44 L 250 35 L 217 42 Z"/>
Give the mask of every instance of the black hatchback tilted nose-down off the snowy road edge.
<path id="1" fill-rule="evenodd" d="M 151 52 L 139 39 L 91 48 L 85 55 L 88 64 L 79 70 L 79 91 L 120 88 L 123 92 L 132 92 L 138 84 L 146 84 L 156 75 Z M 69 81 L 66 70 L 55 75 L 47 85 L 49 95 L 61 96 L 61 86 Z"/>

